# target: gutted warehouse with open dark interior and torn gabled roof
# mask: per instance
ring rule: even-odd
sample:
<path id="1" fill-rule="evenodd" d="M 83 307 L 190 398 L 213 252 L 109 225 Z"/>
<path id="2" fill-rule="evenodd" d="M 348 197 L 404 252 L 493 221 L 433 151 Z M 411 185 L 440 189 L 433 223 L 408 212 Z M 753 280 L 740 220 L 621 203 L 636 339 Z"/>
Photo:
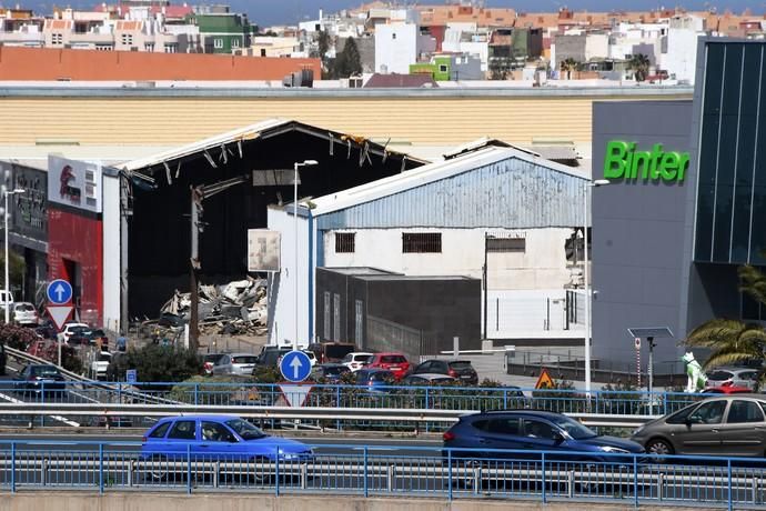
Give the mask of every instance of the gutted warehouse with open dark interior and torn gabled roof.
<path id="1" fill-rule="evenodd" d="M 163 308 L 184 312 L 196 234 L 201 319 L 219 312 L 232 317 L 234 309 L 246 307 L 246 322 L 263 324 L 265 320 L 255 315 L 265 313 L 260 305 L 265 305 L 266 275 L 253 274 L 255 280 L 248 280 L 248 230 L 266 227 L 269 204 L 293 201 L 293 164 L 309 158 L 319 164 L 301 172 L 302 198 L 333 193 L 424 163 L 364 138 L 296 121 L 268 120 L 104 167 L 102 172 L 99 169 L 103 213 L 94 219 L 94 224 L 101 223 L 94 228 L 101 231 L 94 234 L 101 244 L 93 259 L 102 268 L 89 272 L 88 279 L 83 273 L 81 282 L 83 289 L 102 289 L 93 300 L 93 308 L 100 309 L 94 318 L 121 330 L 129 320 L 157 318 Z M 198 208 L 196 233 L 190 221 L 190 190 L 208 191 Z M 83 246 L 81 251 L 91 248 Z M 228 295 L 229 289 L 242 289 L 239 282 L 248 282 L 244 288 L 254 293 L 254 301 L 252 294 L 246 300 Z"/>

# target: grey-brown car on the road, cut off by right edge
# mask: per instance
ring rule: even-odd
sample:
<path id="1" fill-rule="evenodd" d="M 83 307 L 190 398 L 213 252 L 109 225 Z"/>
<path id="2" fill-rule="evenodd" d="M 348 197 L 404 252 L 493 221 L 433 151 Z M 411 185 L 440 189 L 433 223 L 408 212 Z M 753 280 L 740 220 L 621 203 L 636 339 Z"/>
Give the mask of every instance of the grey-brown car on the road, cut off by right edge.
<path id="1" fill-rule="evenodd" d="M 633 440 L 654 454 L 763 457 L 766 395 L 710 397 L 644 424 Z"/>

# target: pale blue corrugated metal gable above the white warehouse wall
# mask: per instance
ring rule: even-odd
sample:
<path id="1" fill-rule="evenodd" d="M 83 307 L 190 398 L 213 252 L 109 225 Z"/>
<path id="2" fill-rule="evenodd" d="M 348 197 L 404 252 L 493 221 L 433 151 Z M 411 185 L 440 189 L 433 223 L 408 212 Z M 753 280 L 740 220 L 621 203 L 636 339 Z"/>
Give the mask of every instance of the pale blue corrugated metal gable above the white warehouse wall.
<path id="1" fill-rule="evenodd" d="M 320 230 L 582 226 L 585 177 L 517 158 L 318 218 Z"/>

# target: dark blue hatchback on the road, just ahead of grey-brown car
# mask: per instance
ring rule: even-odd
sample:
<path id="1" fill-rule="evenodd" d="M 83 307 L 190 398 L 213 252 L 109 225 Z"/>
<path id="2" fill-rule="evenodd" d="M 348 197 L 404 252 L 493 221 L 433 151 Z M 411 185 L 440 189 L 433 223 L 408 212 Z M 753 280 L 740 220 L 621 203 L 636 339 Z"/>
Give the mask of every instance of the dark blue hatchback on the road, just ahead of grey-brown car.
<path id="1" fill-rule="evenodd" d="M 644 448 L 634 441 L 599 435 L 576 420 L 555 412 L 536 410 L 508 410 L 473 413 L 460 418 L 444 434 L 444 448 L 451 448 L 455 459 L 540 458 L 538 452 L 492 452 L 493 449 L 520 451 L 557 451 L 562 455 L 547 454 L 546 459 L 565 461 L 633 462 L 631 457 L 614 454 L 641 454 Z M 471 448 L 476 451 L 463 451 Z M 585 454 L 567 455 L 566 452 Z M 447 457 L 447 451 L 443 451 Z"/>

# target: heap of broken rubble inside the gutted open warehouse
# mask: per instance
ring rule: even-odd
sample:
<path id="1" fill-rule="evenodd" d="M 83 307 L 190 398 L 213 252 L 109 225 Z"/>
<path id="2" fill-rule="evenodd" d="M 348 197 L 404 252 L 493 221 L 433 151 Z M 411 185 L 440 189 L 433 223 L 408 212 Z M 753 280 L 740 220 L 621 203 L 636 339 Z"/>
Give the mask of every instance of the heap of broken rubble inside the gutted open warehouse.
<path id="1" fill-rule="evenodd" d="M 169 314 L 189 322 L 191 293 L 177 290 L 160 311 L 160 324 Z M 224 285 L 200 285 L 198 311 L 201 333 L 261 335 L 266 332 L 266 281 L 249 277 Z"/>

